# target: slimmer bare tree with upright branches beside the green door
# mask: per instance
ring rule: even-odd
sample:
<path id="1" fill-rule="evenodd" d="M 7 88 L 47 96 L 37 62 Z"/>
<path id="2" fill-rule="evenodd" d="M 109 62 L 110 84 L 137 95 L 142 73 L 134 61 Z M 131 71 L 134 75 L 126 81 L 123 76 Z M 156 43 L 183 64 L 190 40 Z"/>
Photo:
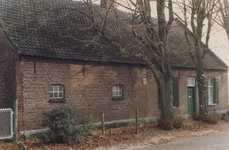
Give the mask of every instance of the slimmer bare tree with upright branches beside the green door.
<path id="1" fill-rule="evenodd" d="M 209 51 L 211 27 L 217 16 L 214 15 L 217 3 L 216 0 L 183 0 L 182 6 L 180 5 L 184 13 L 185 37 L 189 45 L 189 54 L 196 65 L 200 115 L 208 113 L 204 60 L 206 53 Z M 188 34 L 189 25 L 191 26 L 193 39 Z M 202 42 L 202 40 L 205 42 Z"/>

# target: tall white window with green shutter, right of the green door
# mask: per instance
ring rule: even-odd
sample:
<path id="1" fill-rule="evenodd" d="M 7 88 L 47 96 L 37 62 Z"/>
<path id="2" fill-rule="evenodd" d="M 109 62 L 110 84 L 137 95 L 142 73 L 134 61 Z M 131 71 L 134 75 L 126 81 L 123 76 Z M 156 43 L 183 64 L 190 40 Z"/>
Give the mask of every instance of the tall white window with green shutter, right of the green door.
<path id="1" fill-rule="evenodd" d="M 207 96 L 208 105 L 216 105 L 219 103 L 218 80 L 215 78 L 207 79 Z"/>

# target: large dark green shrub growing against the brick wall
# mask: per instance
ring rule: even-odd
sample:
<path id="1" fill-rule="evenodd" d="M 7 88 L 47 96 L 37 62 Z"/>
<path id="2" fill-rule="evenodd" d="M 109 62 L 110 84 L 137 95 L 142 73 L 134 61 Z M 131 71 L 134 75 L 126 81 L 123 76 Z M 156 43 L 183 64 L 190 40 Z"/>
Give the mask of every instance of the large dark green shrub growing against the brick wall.
<path id="1" fill-rule="evenodd" d="M 61 106 L 52 111 L 42 112 L 42 126 L 48 126 L 49 130 L 40 137 L 43 141 L 54 143 L 76 144 L 83 141 L 80 134 L 84 133 L 77 121 L 77 110 L 74 105 Z"/>

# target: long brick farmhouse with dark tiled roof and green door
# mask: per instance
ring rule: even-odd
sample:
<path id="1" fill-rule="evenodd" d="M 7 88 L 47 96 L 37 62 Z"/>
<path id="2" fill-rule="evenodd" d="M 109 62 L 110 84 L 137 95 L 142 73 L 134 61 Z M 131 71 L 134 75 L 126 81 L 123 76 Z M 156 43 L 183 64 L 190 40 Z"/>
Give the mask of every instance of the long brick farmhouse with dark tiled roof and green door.
<path id="1" fill-rule="evenodd" d="M 144 62 L 120 54 L 103 39 L 93 43 L 91 22 L 82 13 L 50 9 L 41 15 L 41 10 L 33 12 L 42 9 L 41 5 L 27 3 L 1 1 L 0 6 L 0 108 L 12 108 L 13 100 L 18 99 L 19 131 L 41 129 L 42 111 L 70 104 L 76 106 L 80 123 L 90 113 L 100 117 L 104 112 L 107 122 L 134 119 L 135 109 L 140 118 L 160 115 L 157 84 Z M 56 1 L 53 6 L 88 11 L 78 2 Z M 104 11 L 99 5 L 94 7 L 98 16 Z M 139 46 L 128 30 L 126 18 L 130 15 L 121 11 L 118 15 L 120 24 L 125 25 L 122 44 Z M 109 16 L 109 29 L 115 26 L 113 16 Z M 195 65 L 178 20 L 169 38 L 174 114 L 198 113 Z M 209 50 L 205 59 L 209 111 L 228 110 L 227 69 Z"/>

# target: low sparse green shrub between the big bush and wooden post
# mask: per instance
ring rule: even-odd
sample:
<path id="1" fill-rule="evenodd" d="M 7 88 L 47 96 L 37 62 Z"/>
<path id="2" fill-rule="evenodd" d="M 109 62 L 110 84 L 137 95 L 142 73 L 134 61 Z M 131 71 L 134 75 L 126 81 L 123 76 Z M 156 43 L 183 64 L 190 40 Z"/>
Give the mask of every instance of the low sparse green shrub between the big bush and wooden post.
<path id="1" fill-rule="evenodd" d="M 98 129 L 98 125 L 96 123 L 99 122 L 99 119 L 96 118 L 93 114 L 90 114 L 89 116 L 85 117 L 84 119 L 84 129 L 86 131 L 94 131 Z"/>

